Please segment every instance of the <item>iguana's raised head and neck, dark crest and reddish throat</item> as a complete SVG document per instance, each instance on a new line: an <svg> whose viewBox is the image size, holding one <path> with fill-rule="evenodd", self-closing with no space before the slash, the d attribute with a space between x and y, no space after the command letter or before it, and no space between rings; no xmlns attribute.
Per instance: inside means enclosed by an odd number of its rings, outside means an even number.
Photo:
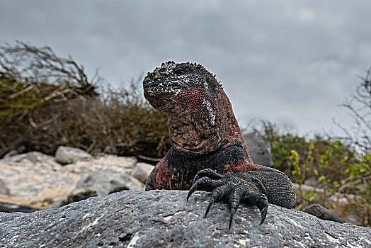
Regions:
<svg viewBox="0 0 371 248"><path fill-rule="evenodd" d="M147 74L143 89L154 108L168 113L177 150L202 154L244 142L227 95L202 65L165 62Z"/></svg>

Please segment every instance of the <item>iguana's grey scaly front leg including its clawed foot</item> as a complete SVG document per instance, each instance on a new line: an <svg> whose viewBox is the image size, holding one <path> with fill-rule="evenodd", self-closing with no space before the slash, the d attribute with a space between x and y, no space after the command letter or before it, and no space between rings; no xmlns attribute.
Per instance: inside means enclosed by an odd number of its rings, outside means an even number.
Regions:
<svg viewBox="0 0 371 248"><path fill-rule="evenodd" d="M212 169L202 169L193 180L188 198L196 190L212 191L205 218L212 203L226 200L229 203L229 229L239 203L256 205L261 210L262 224L266 219L268 202L285 208L293 208L296 201L295 188L290 179L280 171L262 167L259 171L249 171L228 175L218 174Z"/></svg>

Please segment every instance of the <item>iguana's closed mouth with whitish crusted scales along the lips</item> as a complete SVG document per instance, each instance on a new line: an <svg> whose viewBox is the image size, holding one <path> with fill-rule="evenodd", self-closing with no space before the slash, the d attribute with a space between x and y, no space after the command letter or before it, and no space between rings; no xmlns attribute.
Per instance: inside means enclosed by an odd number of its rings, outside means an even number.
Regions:
<svg viewBox="0 0 371 248"><path fill-rule="evenodd" d="M149 95L164 95L178 94L182 89L186 89L178 83L178 81L147 81L143 84L144 94Z"/></svg>

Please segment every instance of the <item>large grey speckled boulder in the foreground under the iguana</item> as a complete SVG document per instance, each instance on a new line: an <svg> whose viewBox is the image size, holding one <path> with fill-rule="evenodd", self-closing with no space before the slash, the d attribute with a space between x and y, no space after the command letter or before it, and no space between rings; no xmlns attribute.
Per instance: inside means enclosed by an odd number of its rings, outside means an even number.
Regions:
<svg viewBox="0 0 371 248"><path fill-rule="evenodd" d="M209 193L122 191L35 213L0 213L4 247L370 247L371 228L270 205L263 225L242 204L232 230L224 203L203 218Z"/></svg>

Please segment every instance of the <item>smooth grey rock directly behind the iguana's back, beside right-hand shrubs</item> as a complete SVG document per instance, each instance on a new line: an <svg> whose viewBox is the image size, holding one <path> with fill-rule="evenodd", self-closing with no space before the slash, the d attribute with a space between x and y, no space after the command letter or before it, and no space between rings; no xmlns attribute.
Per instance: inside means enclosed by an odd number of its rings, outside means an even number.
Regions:
<svg viewBox="0 0 371 248"><path fill-rule="evenodd" d="M256 132L247 133L244 135L247 146L249 147L250 156L255 164L273 167L273 160L270 157L270 150L263 140L263 137Z"/></svg>

